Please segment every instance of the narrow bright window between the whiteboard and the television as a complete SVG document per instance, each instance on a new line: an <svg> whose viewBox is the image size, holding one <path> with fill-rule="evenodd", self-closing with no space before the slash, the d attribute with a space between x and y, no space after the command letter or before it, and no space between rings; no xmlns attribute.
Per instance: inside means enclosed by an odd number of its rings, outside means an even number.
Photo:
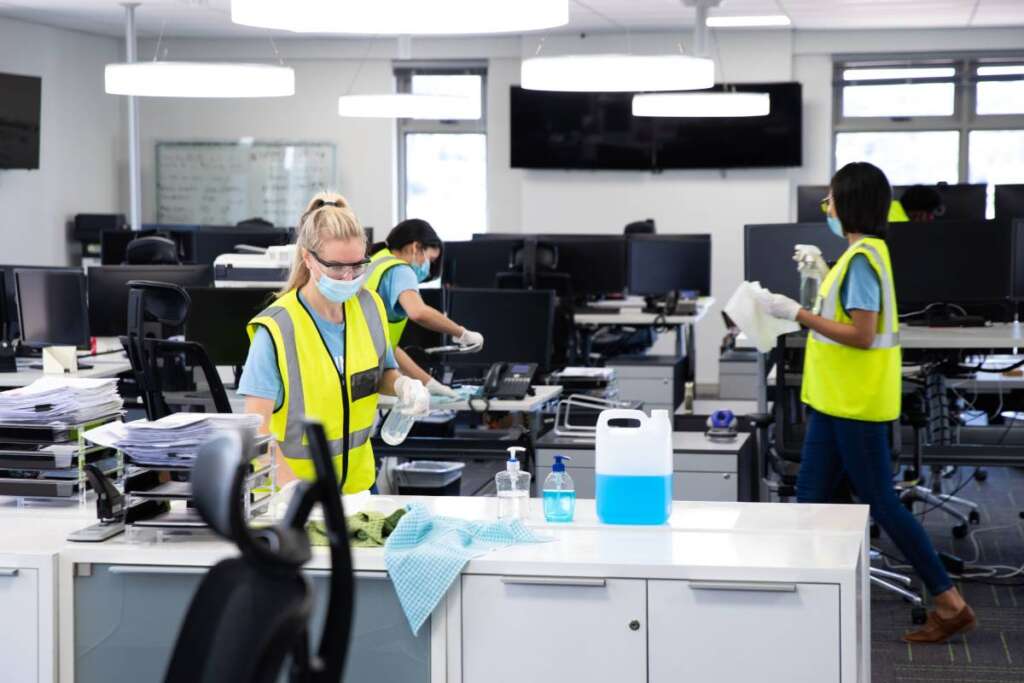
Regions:
<svg viewBox="0 0 1024 683"><path fill-rule="evenodd" d="M487 137L482 65L399 65L399 92L458 97L466 119L398 121L399 218L423 218L442 240L487 226Z"/></svg>

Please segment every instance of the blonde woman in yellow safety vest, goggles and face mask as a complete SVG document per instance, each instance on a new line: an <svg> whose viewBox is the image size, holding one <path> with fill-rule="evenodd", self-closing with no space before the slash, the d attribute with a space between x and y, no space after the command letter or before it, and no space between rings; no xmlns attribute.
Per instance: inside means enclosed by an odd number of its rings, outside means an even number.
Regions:
<svg viewBox="0 0 1024 683"><path fill-rule="evenodd" d="M430 403L422 383L396 371L384 305L362 289L366 253L366 232L345 199L317 195L299 219L288 284L249 322L239 382L246 412L263 417L295 476L314 476L302 420L324 424L346 494L376 478L370 434L378 395L398 396L410 414Z"/></svg>

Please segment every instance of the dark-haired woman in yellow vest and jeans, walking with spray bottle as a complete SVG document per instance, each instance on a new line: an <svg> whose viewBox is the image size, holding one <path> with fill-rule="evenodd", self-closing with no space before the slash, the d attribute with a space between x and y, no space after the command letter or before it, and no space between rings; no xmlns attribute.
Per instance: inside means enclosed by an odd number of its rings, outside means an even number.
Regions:
<svg viewBox="0 0 1024 683"><path fill-rule="evenodd" d="M871 517L913 565L935 610L912 643L944 642L977 625L924 527L892 482L890 429L899 420L902 380L896 289L885 237L892 188L866 163L847 164L831 180L827 224L849 248L825 272L814 311L780 294L762 303L810 332L801 399L809 408L797 500L828 503L845 475Z"/></svg>

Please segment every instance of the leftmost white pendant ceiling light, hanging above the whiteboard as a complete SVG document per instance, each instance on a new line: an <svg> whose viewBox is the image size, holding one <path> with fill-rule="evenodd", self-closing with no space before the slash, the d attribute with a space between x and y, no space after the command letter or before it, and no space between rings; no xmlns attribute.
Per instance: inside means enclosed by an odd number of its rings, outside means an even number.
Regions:
<svg viewBox="0 0 1024 683"><path fill-rule="evenodd" d="M295 72L271 65L137 61L106 65L105 90L139 97L288 97Z"/></svg>

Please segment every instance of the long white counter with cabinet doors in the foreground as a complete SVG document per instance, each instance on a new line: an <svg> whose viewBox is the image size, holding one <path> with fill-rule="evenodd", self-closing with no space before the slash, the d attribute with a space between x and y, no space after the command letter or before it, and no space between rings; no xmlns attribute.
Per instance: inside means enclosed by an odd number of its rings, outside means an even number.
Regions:
<svg viewBox="0 0 1024 683"><path fill-rule="evenodd" d="M390 510L410 500L358 505ZM417 500L446 516L496 513L495 499ZM651 527L600 524L588 500L571 524L548 525L542 515L531 500L527 524L553 542L469 562L419 637L397 609L383 551L354 550L345 680L660 682L686 671L707 681L870 681L866 507L675 503L669 523ZM0 512L0 538L36 537L13 544L13 555L38 549L56 567L57 599L31 607L58 616L56 640L39 645L59 652L59 680L160 680L203 573L237 550L212 539L74 545L57 526L31 511ZM319 610L328 566L315 549L306 569ZM7 608L0 621L20 626L23 616ZM6 652L5 674L35 652Z"/></svg>

